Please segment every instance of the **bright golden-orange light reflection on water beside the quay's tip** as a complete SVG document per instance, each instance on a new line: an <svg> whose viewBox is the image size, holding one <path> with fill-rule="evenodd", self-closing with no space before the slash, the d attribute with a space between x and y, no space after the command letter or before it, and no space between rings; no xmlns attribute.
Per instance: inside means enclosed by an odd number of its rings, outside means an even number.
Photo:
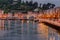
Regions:
<svg viewBox="0 0 60 40"><path fill-rule="evenodd" d="M38 24L37 31L40 40L48 40L48 27L44 23Z"/></svg>

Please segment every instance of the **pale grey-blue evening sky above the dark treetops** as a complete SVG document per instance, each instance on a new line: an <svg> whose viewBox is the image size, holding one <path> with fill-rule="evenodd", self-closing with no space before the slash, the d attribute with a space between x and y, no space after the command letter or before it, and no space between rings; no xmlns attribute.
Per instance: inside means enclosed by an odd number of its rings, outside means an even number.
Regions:
<svg viewBox="0 0 60 40"><path fill-rule="evenodd" d="M23 1L23 0L22 0ZM26 0L24 0L26 1ZM27 0L27 1L31 1L31 0ZM60 0L33 0L33 2L37 1L38 3L52 3L52 4L55 4L56 7L59 7L60 6Z"/></svg>

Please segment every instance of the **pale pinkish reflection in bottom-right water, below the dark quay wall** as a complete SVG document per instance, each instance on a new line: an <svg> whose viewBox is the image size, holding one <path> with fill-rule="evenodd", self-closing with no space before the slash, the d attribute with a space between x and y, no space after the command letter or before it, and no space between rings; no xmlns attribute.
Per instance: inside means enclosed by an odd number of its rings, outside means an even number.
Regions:
<svg viewBox="0 0 60 40"><path fill-rule="evenodd" d="M59 33L57 32L58 30L55 30L53 28L49 28L49 39L50 40L60 40L60 35Z"/></svg>

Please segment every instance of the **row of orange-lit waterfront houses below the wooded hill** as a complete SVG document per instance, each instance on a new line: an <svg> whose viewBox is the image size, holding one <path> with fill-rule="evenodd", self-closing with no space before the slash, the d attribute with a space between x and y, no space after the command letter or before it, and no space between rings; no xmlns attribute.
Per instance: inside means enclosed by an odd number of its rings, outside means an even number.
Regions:
<svg viewBox="0 0 60 40"><path fill-rule="evenodd" d="M27 13L22 13L22 12L14 12L13 13L5 13L3 12L3 10L0 10L0 18L36 18L36 19L40 19L40 18L60 18L60 7L57 8L53 8L53 9L49 9L49 10L43 10L43 11L39 11L39 12L32 12L29 11Z"/></svg>

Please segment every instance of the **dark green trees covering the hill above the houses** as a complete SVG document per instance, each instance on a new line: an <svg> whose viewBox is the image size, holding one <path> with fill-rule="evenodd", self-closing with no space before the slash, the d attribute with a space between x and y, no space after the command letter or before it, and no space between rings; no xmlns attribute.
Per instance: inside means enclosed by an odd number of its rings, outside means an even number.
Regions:
<svg viewBox="0 0 60 40"><path fill-rule="evenodd" d="M47 3L47 4L41 4L38 6L38 2L33 1L17 1L16 4L14 4L13 0L0 0L0 9L4 10L4 13L8 13L11 10L22 10L22 11L33 11L36 8L39 8L39 10L48 10L50 8L54 8L55 4Z"/></svg>

